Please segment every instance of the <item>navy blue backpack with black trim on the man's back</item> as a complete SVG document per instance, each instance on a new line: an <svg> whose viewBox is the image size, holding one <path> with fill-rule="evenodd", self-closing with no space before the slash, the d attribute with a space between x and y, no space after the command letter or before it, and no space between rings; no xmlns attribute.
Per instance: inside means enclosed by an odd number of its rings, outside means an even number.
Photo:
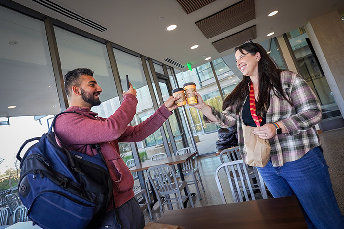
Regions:
<svg viewBox="0 0 344 229"><path fill-rule="evenodd" d="M71 113L71 112L62 112ZM44 229L92 229L105 214L112 197L112 182L100 146L88 156L58 146L52 131L27 140L17 153L20 163L20 200L28 217ZM38 140L25 153L24 146Z"/></svg>

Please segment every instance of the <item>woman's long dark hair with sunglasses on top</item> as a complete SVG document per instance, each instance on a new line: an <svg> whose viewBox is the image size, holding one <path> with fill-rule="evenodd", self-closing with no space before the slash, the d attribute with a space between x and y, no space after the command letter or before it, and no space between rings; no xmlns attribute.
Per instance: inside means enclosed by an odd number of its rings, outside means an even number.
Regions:
<svg viewBox="0 0 344 229"><path fill-rule="evenodd" d="M264 117L267 109L270 106L270 90L275 87L282 97L290 104L291 101L285 96L282 85L280 73L283 71L276 67L275 61L266 53L266 50L257 43L245 42L236 47L235 52L239 50L242 54L255 55L257 52L261 54L261 59L258 62L258 90L259 98L256 104L257 115ZM249 76L243 76L243 80L234 88L234 90L226 97L223 102L222 110L228 109L231 112L239 114L243 105L243 100L249 93L249 83L251 79ZM275 95L276 92L274 91ZM276 95L281 97L279 95Z"/></svg>

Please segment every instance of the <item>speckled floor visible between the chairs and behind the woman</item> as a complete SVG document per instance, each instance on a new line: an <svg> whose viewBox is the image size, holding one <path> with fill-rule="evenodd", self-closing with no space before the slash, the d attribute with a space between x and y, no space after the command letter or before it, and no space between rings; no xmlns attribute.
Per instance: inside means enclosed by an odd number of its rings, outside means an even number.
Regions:
<svg viewBox="0 0 344 229"><path fill-rule="evenodd" d="M342 214L344 214L344 128L327 131L319 134L319 136L324 148L324 156L329 166L333 190ZM215 141L216 139L214 139L214 142ZM222 204L214 179L214 172L216 167L220 164L220 159L218 156L215 156L215 154L212 154L199 157L198 163L205 192L201 193L202 200L199 199L197 194L192 197L195 207ZM190 177L187 179L190 179ZM199 187L201 189L201 185ZM191 192L196 193L195 185L189 185L189 188ZM228 193L225 194L229 197L226 197L227 202L231 203L233 200L229 193L229 185L227 188L223 187L223 190L228 190ZM191 207L190 203L188 203L188 207ZM167 206L163 208L167 210ZM149 213L146 210L143 211L143 214L145 215L146 222L156 222L161 216L159 204L156 203L153 206L153 220L150 219Z"/></svg>

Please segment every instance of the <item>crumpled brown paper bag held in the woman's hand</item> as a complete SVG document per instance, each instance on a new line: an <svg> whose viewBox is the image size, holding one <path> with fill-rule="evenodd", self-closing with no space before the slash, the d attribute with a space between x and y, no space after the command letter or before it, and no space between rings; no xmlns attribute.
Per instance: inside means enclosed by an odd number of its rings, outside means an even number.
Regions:
<svg viewBox="0 0 344 229"><path fill-rule="evenodd" d="M270 160L271 146L268 140L252 133L254 127L243 125L243 139L247 150L247 164L264 167Z"/></svg>

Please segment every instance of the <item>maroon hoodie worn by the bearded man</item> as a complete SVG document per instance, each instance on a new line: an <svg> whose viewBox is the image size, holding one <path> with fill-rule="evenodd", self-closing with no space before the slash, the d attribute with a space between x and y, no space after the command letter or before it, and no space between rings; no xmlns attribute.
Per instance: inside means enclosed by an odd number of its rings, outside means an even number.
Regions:
<svg viewBox="0 0 344 229"><path fill-rule="evenodd" d="M158 130L172 115L162 105L153 115L137 126L128 126L136 113L137 99L132 94L123 97L121 106L109 118L98 117L89 108L69 107L81 115L66 113L56 119L54 131L61 147L87 155L97 154L89 144L99 143L109 167L116 208L134 197L134 180L120 156L119 142L139 142ZM108 210L112 210L112 202Z"/></svg>

